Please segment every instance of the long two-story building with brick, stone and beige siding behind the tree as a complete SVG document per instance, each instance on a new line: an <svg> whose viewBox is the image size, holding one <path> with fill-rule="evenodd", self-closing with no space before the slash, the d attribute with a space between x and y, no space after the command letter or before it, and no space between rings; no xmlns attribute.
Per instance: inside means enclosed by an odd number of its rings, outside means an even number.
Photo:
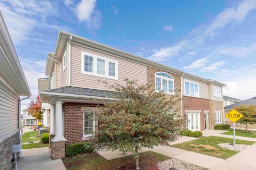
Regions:
<svg viewBox="0 0 256 170"><path fill-rule="evenodd" d="M187 116L190 130L213 129L223 121L225 84L186 73L68 32L59 31L54 53L48 53L46 76L38 79L42 103L51 105L50 148L53 159L65 157L67 143L89 140L94 122L84 114L113 99L98 80L125 84L153 84L175 95L178 114ZM182 90L181 90L182 89ZM97 100L92 100L92 98ZM180 100L182 98L182 100Z"/></svg>

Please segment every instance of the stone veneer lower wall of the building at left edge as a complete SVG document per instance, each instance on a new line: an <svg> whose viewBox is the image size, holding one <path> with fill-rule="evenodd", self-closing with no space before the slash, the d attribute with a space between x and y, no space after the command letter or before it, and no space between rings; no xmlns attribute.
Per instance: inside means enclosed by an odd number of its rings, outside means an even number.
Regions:
<svg viewBox="0 0 256 170"><path fill-rule="evenodd" d="M20 132L0 143L0 169L12 169L12 146L20 143Z"/></svg>

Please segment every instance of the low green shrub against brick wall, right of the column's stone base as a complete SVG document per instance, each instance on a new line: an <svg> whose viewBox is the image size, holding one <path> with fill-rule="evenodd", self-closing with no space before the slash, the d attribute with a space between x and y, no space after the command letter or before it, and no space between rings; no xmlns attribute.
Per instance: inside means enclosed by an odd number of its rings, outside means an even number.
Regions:
<svg viewBox="0 0 256 170"><path fill-rule="evenodd" d="M93 151L93 143L71 143L66 146L66 156L75 156L83 153L90 153Z"/></svg>

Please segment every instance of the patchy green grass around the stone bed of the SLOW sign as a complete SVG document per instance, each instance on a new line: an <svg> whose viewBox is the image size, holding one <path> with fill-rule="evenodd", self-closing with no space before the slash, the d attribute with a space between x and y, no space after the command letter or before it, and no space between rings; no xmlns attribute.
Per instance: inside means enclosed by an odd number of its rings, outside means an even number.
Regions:
<svg viewBox="0 0 256 170"><path fill-rule="evenodd" d="M228 150L218 146L219 143L233 143L233 139L222 137L205 137L173 145L174 148L185 149L199 154L209 155L217 158L227 159L237 151ZM253 145L252 141L236 140L236 144Z"/></svg>

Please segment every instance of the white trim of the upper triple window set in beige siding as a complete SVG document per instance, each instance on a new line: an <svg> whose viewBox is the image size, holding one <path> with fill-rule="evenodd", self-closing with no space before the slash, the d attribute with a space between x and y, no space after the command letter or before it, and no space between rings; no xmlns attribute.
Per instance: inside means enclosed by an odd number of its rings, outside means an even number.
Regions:
<svg viewBox="0 0 256 170"><path fill-rule="evenodd" d="M93 57L93 72L92 73L84 71L84 55ZM99 58L101 60L105 60L105 75L97 73L97 58ZM109 74L108 73L109 62L115 63L115 77L108 75ZM118 80L118 62L115 60L111 60L109 58L101 57L99 55L95 55L95 54L91 54L91 53L87 53L87 52L81 52L81 73L87 74L87 75L93 75L93 76L97 76L97 77L101 77L101 78L106 78L106 79Z"/></svg>

